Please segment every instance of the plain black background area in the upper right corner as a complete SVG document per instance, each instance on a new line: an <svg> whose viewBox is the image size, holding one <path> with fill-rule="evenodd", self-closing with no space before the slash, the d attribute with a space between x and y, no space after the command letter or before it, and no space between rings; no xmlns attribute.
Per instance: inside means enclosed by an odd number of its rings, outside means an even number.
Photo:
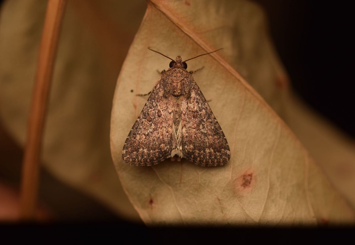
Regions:
<svg viewBox="0 0 355 245"><path fill-rule="evenodd" d="M354 13L347 1L256 0L294 91L355 137Z"/></svg>

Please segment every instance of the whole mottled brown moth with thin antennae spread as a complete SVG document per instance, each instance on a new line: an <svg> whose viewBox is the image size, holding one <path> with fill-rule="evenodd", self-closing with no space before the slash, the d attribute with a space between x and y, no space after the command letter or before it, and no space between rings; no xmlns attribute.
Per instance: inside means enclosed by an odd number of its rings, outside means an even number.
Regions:
<svg viewBox="0 0 355 245"><path fill-rule="evenodd" d="M201 166L226 164L230 158L229 146L217 119L193 80L193 72L186 70L186 61L191 59L182 61L180 56L175 60L169 59L172 60L170 68L162 71L162 77L128 134L122 160L146 166L169 157L172 161L186 158Z"/></svg>

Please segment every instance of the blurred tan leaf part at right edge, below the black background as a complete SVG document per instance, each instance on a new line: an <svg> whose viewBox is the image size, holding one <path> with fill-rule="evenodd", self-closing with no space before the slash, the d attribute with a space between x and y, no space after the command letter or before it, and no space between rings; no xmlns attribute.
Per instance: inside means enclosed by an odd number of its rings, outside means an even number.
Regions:
<svg viewBox="0 0 355 245"><path fill-rule="evenodd" d="M298 98L284 99L283 119L310 151L334 186L355 208L355 144Z"/></svg>

